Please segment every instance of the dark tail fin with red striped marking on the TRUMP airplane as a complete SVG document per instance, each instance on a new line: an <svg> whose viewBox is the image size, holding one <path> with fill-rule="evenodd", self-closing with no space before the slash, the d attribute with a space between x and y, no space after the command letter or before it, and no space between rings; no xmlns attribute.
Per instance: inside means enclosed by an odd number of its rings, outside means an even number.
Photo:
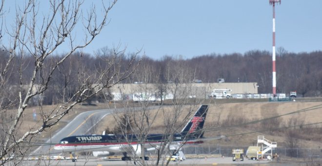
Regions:
<svg viewBox="0 0 322 166"><path fill-rule="evenodd" d="M181 135L187 136L189 138L201 138L203 136L203 131L201 131L204 121L206 120L206 115L209 105L201 105L196 111L195 115L189 120L187 125L185 125L181 131Z"/></svg>

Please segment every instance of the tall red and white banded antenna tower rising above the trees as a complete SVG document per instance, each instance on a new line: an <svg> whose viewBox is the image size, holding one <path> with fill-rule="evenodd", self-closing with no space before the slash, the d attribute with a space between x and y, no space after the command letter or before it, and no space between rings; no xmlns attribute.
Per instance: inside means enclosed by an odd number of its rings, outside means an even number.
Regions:
<svg viewBox="0 0 322 166"><path fill-rule="evenodd" d="M275 3L280 3L281 0L269 0L269 4L273 5L273 95L276 96L276 51L275 51Z"/></svg>

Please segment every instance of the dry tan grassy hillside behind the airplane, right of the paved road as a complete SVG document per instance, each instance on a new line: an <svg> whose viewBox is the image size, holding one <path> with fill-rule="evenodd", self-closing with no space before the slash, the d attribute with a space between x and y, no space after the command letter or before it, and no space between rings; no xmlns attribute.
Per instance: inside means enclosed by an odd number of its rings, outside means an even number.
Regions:
<svg viewBox="0 0 322 166"><path fill-rule="evenodd" d="M311 108L320 105L320 108L282 116L278 119L268 120L262 123L252 125L244 125L239 127L230 127L228 129L214 130L220 126L238 125L246 122L274 117L287 114L290 112ZM205 137L218 135L228 136L225 140L215 140L206 144L223 145L223 146L249 146L256 144L257 136L264 135L265 138L278 142L279 147L286 146L288 130L294 130L298 133L298 147L317 148L322 147L322 125L305 124L322 122L322 102L252 102L252 103L226 103L226 104L210 104L210 108L206 117L204 128L206 129ZM316 107L314 107L316 108ZM98 132L104 129L113 129L116 122L113 116L106 116L100 123ZM300 127L292 127L288 129L273 130L289 125L303 125ZM159 118L154 122L151 133L159 133L164 131L163 118ZM269 129L272 130L269 130ZM178 128L181 130L181 128ZM266 131L263 131L266 130ZM262 131L262 132L254 132ZM247 134L249 132L254 132Z"/></svg>

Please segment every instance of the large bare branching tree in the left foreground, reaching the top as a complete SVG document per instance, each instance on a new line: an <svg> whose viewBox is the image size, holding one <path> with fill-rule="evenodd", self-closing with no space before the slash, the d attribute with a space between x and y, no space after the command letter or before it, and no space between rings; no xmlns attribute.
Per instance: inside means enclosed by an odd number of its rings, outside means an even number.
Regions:
<svg viewBox="0 0 322 166"><path fill-rule="evenodd" d="M4 57L0 67L2 164L8 162L8 158L5 158L7 155L26 154L32 140L46 128L56 125L73 106L133 73L140 61L134 56L124 62L124 50L120 47L112 49L107 56L100 57L101 61L95 65L94 72L80 65L77 74L71 74L71 68L64 63L73 55L84 55L81 48L100 35L108 22L108 13L116 2L117 0L112 0L105 4L102 1L100 9L93 5L85 12L82 10L83 0L50 0L47 2L49 8L46 14L39 12L40 3L44 1L26 0L24 4L16 6L15 23L11 27L2 26L0 30L3 50L1 57ZM5 19L8 11L4 11L3 5L4 0L1 1L0 16ZM100 12L100 17L97 12ZM7 25L4 22L1 25ZM4 42L4 37L8 41ZM55 56L55 51L60 47L67 47L68 50ZM69 65L73 63L74 61L70 61ZM56 73L63 77L64 86L52 84ZM71 80L71 76L75 75L77 79ZM11 78L18 78L19 81L10 84ZM72 82L77 82L77 87L71 91L68 87ZM40 124L28 131L19 130L23 125L23 115L28 103L36 96L44 96L48 91L56 90L60 91L62 100L56 101L60 101L61 105L51 110L40 109ZM16 111L9 112L8 109Z"/></svg>

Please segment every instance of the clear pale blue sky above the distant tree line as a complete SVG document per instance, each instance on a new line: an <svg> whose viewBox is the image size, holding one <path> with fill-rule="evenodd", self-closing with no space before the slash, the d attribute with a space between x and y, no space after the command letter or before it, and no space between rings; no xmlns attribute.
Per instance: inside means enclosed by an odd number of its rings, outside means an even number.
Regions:
<svg viewBox="0 0 322 166"><path fill-rule="evenodd" d="M276 46L296 53L322 50L321 7L322 0L282 0ZM272 50L269 0L119 0L109 18L85 52L119 43L127 53L142 49L153 59Z"/></svg>

